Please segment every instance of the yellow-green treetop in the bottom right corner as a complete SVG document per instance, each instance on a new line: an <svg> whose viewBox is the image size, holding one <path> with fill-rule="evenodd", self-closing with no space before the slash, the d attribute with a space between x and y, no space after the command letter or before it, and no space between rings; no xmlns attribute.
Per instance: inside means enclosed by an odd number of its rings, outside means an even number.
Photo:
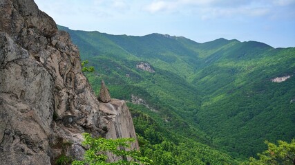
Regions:
<svg viewBox="0 0 295 165"><path fill-rule="evenodd" d="M250 165L262 164L294 164L295 165L295 140L287 143L279 140L276 144L265 141L268 149L263 153L258 153L259 159L250 157Z"/></svg>

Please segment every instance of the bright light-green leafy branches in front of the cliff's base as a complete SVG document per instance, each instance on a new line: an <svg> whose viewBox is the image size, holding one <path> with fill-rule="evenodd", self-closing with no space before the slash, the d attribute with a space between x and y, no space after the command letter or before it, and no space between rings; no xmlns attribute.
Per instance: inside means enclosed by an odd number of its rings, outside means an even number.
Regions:
<svg viewBox="0 0 295 165"><path fill-rule="evenodd" d="M140 151L129 150L131 142L135 140L132 138L121 138L121 139L105 139L102 137L93 138L89 133L84 133L84 144L88 147L88 150L84 154L84 160L75 160L73 165L84 165L84 164L151 164L152 161L147 157L142 157ZM107 162L108 156L106 153L112 153L115 155L117 162Z"/></svg>

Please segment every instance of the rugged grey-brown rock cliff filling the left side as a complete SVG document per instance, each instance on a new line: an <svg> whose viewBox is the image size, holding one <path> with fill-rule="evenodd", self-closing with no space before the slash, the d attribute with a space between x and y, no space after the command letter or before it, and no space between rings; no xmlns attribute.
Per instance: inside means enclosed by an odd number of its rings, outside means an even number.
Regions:
<svg viewBox="0 0 295 165"><path fill-rule="evenodd" d="M79 159L83 132L135 137L123 100L97 100L68 34L33 0L1 0L0 164Z"/></svg>

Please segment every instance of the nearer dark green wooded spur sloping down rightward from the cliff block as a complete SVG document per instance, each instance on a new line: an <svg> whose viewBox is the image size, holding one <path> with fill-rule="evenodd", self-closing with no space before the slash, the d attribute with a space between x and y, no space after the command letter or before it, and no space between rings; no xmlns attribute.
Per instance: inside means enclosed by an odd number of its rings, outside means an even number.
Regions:
<svg viewBox="0 0 295 165"><path fill-rule="evenodd" d="M140 150L155 164L238 164L229 155L167 131L149 115L131 108Z"/></svg>

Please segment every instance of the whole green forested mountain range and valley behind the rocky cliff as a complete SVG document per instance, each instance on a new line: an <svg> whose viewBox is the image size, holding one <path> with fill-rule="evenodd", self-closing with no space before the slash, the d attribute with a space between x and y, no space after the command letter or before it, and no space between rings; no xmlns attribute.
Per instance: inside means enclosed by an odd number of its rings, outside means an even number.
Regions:
<svg viewBox="0 0 295 165"><path fill-rule="evenodd" d="M103 79L129 101L142 151L157 164L238 164L265 140L295 138L295 48L59 29L95 67L95 91Z"/></svg>

